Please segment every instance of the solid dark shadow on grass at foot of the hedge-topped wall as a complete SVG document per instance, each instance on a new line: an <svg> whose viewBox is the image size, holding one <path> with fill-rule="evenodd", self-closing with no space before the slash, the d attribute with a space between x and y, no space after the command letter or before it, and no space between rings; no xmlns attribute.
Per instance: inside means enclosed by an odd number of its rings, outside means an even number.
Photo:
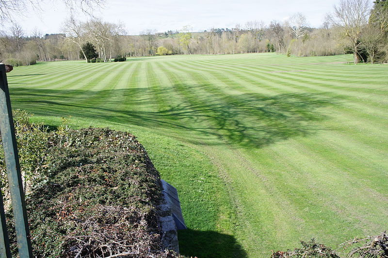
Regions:
<svg viewBox="0 0 388 258"><path fill-rule="evenodd" d="M246 258L247 254L233 236L215 231L178 230L179 252L198 258Z"/></svg>

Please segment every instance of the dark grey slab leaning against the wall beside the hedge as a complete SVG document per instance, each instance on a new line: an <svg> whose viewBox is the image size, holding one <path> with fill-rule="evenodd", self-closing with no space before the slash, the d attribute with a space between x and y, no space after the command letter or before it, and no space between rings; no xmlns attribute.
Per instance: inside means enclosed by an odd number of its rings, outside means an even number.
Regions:
<svg viewBox="0 0 388 258"><path fill-rule="evenodd" d="M183 219L182 210L180 208L180 202L178 197L177 189L167 183L164 180L162 181L163 191L162 194L167 201L167 204L171 206L172 215L177 226L177 229L187 229L185 221Z"/></svg>

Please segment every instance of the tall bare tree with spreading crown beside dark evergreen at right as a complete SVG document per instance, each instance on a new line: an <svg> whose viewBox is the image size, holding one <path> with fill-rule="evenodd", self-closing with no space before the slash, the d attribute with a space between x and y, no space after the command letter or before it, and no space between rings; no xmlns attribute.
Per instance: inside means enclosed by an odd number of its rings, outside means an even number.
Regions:
<svg viewBox="0 0 388 258"><path fill-rule="evenodd" d="M362 28L368 23L370 9L369 0L340 0L339 5L334 7L336 23L351 41L355 64L359 60L359 39Z"/></svg>

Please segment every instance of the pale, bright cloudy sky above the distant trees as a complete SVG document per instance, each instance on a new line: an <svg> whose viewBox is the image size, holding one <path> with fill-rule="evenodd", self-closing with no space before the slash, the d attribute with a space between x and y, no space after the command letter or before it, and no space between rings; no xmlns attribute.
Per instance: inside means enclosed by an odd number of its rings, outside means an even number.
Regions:
<svg viewBox="0 0 388 258"><path fill-rule="evenodd" d="M194 32L211 28L234 28L247 21L284 21L300 12L311 27L319 27L326 13L333 11L339 0L106 0L105 7L94 12L105 21L125 25L127 34L135 35L148 29L157 32L180 30L189 25ZM370 0L372 2L372 0ZM41 0L41 11L29 10L17 18L23 30L34 28L43 33L59 33L69 16L61 0ZM80 20L88 16L78 14Z"/></svg>

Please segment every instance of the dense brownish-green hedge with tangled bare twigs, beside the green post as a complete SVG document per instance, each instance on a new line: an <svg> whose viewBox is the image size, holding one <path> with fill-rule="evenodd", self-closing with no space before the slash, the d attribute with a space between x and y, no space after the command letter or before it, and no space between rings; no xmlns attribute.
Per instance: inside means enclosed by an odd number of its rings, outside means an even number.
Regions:
<svg viewBox="0 0 388 258"><path fill-rule="evenodd" d="M40 133L47 134L45 155L33 162L39 175L30 177L26 196L34 257L178 257L161 242L159 173L133 135L65 127Z"/></svg>

